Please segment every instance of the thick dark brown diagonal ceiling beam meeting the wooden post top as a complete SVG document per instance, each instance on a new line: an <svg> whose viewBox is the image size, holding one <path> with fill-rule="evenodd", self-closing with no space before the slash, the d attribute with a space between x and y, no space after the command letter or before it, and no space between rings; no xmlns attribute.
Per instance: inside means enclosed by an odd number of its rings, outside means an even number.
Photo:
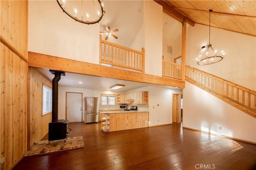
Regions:
<svg viewBox="0 0 256 170"><path fill-rule="evenodd" d="M189 18L187 18L186 16L184 16L183 14L181 14L180 12L175 10L174 7L168 5L166 2L164 2L162 0L154 0L154 1L156 3L162 5L163 6L163 12L166 13L167 15L171 16L175 20L177 20L177 21L182 23L184 21L184 18L186 18L186 22L188 24L190 24L191 26L195 26L195 22L194 21L190 20Z"/></svg>

